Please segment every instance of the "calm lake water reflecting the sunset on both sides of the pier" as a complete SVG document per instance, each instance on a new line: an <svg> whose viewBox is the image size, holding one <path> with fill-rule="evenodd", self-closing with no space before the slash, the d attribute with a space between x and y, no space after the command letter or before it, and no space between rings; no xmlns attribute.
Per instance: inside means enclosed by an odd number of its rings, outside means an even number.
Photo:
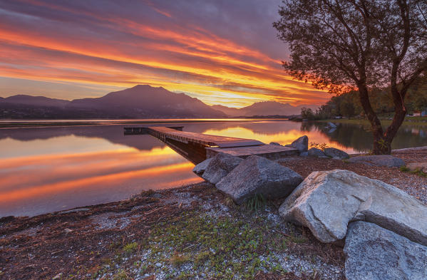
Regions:
<svg viewBox="0 0 427 280"><path fill-rule="evenodd" d="M177 123L173 123L177 125ZM185 131L288 144L301 135L346 152L371 147L358 125L327 130L284 120L182 123ZM194 165L150 135L123 135L123 127L0 129L0 217L117 201L142 190L200 182ZM427 145L427 129L403 127L393 148Z"/></svg>

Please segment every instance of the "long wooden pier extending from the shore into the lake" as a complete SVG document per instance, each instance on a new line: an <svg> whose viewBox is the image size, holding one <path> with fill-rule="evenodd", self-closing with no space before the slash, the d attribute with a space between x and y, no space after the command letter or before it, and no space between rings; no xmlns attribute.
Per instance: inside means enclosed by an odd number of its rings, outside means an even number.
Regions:
<svg viewBox="0 0 427 280"><path fill-rule="evenodd" d="M125 135L150 134L158 138L183 157L197 164L209 157L214 157L218 152L226 152L237 157L259 155L271 160L280 157L298 155L297 150L291 147L268 145L258 140L245 138L232 138L202 133L189 133L180 127L145 127L125 128Z"/></svg>

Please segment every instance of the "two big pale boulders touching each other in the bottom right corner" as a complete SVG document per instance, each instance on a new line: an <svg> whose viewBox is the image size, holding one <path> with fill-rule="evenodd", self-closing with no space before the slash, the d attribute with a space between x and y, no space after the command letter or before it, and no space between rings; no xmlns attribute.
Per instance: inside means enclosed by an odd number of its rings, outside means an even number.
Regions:
<svg viewBox="0 0 427 280"><path fill-rule="evenodd" d="M427 279L427 206L347 170L312 172L279 209L321 242L345 238L346 279Z"/></svg>

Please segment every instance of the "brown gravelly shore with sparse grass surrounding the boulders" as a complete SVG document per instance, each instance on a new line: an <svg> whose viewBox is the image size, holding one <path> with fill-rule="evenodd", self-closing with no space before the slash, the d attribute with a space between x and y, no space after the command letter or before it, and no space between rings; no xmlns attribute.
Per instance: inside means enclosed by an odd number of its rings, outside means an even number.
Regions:
<svg viewBox="0 0 427 280"><path fill-rule="evenodd" d="M406 162L422 160L427 147L396 150L393 155ZM280 163L302 177L314 170L351 170L395 185L427 204L427 178L396 167L310 157ZM283 222L277 211L281 203L268 201L259 209L237 206L201 182L35 217L4 217L0 275L227 279L231 269L242 279L344 279L342 248L322 244L308 229Z"/></svg>

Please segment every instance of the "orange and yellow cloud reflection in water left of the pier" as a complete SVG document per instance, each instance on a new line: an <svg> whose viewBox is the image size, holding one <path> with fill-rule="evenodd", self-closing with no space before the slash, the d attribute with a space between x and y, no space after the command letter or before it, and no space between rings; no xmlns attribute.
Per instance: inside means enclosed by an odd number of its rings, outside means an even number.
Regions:
<svg viewBox="0 0 427 280"><path fill-rule="evenodd" d="M41 214L200 182L193 166L169 147L0 160L0 216Z"/></svg>

